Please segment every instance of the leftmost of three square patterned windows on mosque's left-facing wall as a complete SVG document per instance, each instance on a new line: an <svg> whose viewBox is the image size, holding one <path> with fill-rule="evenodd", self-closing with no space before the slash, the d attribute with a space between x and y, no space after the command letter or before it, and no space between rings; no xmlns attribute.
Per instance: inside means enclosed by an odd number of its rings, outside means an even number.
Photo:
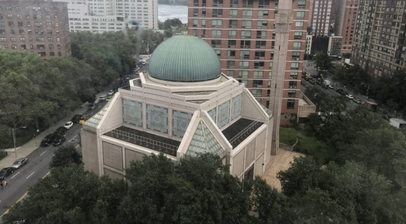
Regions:
<svg viewBox="0 0 406 224"><path fill-rule="evenodd" d="M123 99L123 122L143 126L143 104Z"/></svg>

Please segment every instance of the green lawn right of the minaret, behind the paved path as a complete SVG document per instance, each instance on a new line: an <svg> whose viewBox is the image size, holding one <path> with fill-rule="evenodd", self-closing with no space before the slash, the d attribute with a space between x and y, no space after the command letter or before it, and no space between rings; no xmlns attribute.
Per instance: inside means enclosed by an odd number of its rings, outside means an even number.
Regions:
<svg viewBox="0 0 406 224"><path fill-rule="evenodd" d="M328 162L328 158L332 155L333 151L325 142L317 140L316 137L307 136L304 131L280 127L279 142L293 145L297 138L299 138L299 142L293 149L294 151L312 155L321 164Z"/></svg>

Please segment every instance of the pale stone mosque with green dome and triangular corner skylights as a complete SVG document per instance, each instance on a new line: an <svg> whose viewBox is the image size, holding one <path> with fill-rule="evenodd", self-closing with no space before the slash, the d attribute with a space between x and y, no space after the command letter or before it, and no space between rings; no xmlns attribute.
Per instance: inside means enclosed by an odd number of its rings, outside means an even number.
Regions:
<svg viewBox="0 0 406 224"><path fill-rule="evenodd" d="M234 78L221 73L213 48L174 36L151 55L148 72L119 88L81 131L86 170L125 178L130 161L160 152L176 164L219 155L241 179L269 164L274 116Z"/></svg>

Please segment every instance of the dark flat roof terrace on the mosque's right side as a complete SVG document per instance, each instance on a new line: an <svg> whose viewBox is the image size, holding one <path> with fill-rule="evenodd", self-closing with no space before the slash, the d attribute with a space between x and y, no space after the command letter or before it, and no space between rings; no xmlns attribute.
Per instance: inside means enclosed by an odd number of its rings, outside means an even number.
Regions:
<svg viewBox="0 0 406 224"><path fill-rule="evenodd" d="M255 132L255 130L257 130L262 124L263 123L259 121L240 118L238 121L235 121L229 127L224 129L222 133L231 144L232 148L235 148Z"/></svg>

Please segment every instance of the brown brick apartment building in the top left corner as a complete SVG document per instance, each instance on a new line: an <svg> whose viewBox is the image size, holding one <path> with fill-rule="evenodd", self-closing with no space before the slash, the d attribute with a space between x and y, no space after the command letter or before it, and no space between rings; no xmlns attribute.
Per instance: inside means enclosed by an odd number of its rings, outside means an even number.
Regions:
<svg viewBox="0 0 406 224"><path fill-rule="evenodd" d="M44 59L70 56L67 4L0 0L0 50L22 50Z"/></svg>

